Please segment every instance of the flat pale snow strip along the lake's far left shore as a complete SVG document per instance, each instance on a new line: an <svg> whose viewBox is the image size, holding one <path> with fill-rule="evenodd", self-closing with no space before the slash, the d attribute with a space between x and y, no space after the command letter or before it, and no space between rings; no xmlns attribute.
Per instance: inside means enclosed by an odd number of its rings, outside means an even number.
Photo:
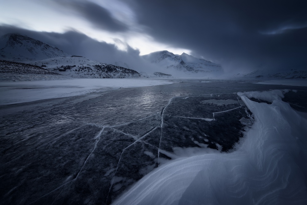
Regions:
<svg viewBox="0 0 307 205"><path fill-rule="evenodd" d="M158 79L66 79L51 81L2 81L0 105L36 100L77 96L117 88L134 88L172 84L174 81Z"/></svg>

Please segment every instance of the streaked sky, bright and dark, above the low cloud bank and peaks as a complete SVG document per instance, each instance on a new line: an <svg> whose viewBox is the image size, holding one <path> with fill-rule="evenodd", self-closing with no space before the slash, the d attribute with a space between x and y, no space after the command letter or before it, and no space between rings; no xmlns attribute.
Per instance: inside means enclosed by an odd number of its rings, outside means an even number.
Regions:
<svg viewBox="0 0 307 205"><path fill-rule="evenodd" d="M66 52L91 45L95 53L107 48L112 52L106 55L125 61L169 50L225 70L261 64L307 69L305 0L0 0L0 5L0 34L20 31L62 48L66 43Z"/></svg>

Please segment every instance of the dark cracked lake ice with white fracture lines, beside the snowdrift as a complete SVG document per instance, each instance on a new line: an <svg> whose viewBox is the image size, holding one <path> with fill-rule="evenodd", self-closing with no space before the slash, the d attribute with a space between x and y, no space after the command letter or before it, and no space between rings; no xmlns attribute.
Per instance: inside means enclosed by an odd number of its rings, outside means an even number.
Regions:
<svg viewBox="0 0 307 205"><path fill-rule="evenodd" d="M253 123L236 92L266 89L178 83L1 106L0 201L110 204L168 160L231 152Z"/></svg>

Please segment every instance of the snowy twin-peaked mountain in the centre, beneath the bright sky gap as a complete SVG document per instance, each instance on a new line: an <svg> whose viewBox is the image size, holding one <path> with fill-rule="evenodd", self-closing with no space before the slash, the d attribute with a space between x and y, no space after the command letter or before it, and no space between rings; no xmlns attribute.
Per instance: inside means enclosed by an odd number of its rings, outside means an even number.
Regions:
<svg viewBox="0 0 307 205"><path fill-rule="evenodd" d="M175 55L165 50L143 55L142 57L151 64L167 69L169 72L197 73L204 75L204 77L206 75L219 75L223 72L220 65L186 53Z"/></svg>

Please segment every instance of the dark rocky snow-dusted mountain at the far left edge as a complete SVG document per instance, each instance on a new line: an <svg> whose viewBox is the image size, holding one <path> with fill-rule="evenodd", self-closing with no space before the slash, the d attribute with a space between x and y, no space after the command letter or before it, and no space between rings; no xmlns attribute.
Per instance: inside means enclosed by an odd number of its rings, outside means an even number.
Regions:
<svg viewBox="0 0 307 205"><path fill-rule="evenodd" d="M6 34L0 39L0 57L3 60L24 62L62 56L69 54L27 36Z"/></svg>

